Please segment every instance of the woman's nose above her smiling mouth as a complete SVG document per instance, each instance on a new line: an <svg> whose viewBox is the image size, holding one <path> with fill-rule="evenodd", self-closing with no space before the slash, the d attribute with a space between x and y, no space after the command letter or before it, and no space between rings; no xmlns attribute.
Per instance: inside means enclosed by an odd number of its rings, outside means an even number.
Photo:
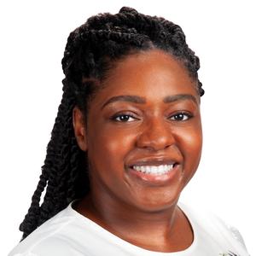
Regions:
<svg viewBox="0 0 256 256"><path fill-rule="evenodd" d="M165 120L151 120L144 125L143 131L137 137L137 147L149 150L162 150L175 143L170 124Z"/></svg>

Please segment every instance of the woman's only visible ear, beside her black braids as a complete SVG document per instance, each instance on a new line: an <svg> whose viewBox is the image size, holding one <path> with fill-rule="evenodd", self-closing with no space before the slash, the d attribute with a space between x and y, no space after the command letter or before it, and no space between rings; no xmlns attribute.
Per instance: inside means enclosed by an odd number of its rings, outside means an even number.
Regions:
<svg viewBox="0 0 256 256"><path fill-rule="evenodd" d="M81 150L87 150L87 137L86 137L86 127L84 124L84 116L82 111L75 107L73 108L73 130L75 137L77 139L77 143L79 144L79 148Z"/></svg>

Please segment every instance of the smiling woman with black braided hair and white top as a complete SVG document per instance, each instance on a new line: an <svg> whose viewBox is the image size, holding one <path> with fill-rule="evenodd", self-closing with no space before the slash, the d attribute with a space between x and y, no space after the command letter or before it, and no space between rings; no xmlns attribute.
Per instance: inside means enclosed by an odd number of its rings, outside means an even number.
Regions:
<svg viewBox="0 0 256 256"><path fill-rule="evenodd" d="M236 230L177 205L201 158L204 94L181 28L130 8L96 15L70 34L62 67L42 174L9 255L248 255Z"/></svg>

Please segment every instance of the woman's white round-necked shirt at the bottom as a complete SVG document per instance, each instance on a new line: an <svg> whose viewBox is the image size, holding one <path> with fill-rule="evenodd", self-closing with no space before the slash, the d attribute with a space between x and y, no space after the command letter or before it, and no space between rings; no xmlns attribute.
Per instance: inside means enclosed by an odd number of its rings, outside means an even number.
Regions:
<svg viewBox="0 0 256 256"><path fill-rule="evenodd" d="M73 210L70 204L21 241L9 256L248 256L241 235L209 213L180 205L194 241L177 253L153 252L132 245Z"/></svg>

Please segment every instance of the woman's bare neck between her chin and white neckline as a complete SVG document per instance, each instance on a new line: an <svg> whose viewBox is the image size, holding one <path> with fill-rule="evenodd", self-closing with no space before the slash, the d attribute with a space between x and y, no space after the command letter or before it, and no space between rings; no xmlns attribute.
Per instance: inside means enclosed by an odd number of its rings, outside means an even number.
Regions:
<svg viewBox="0 0 256 256"><path fill-rule="evenodd" d="M177 201L165 209L145 211L117 199L90 194L76 210L113 235L148 250L181 251L193 241L189 221L177 207Z"/></svg>

